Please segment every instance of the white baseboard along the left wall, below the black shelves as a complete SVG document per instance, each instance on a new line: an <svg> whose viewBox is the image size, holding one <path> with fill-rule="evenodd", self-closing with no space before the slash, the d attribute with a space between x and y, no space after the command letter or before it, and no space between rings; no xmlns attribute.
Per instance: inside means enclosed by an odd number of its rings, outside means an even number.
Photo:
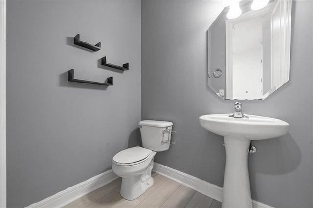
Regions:
<svg viewBox="0 0 313 208"><path fill-rule="evenodd" d="M117 178L118 176L111 169L86 181L76 184L75 186L60 191L40 202L31 204L26 208L61 208L90 193L91 191L103 187Z"/></svg>

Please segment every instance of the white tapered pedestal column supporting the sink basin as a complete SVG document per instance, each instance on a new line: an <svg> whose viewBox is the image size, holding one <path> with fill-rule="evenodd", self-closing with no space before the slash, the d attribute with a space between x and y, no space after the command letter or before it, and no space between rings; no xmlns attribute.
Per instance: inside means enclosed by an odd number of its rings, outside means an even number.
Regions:
<svg viewBox="0 0 313 208"><path fill-rule="evenodd" d="M252 208L248 172L250 140L225 136L226 167L222 208Z"/></svg>

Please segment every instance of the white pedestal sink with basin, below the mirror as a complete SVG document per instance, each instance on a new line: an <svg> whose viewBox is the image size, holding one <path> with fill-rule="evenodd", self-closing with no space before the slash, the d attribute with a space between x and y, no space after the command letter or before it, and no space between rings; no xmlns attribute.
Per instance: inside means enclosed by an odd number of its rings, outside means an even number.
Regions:
<svg viewBox="0 0 313 208"><path fill-rule="evenodd" d="M226 167L222 208L252 208L248 148L251 140L264 140L287 133L289 124L279 119L246 115L249 118L233 118L231 114L200 116L200 125L224 136Z"/></svg>

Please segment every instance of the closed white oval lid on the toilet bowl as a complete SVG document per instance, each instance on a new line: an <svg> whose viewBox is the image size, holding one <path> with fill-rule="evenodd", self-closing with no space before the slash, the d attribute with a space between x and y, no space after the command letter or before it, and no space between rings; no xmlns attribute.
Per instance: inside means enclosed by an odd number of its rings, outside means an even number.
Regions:
<svg viewBox="0 0 313 208"><path fill-rule="evenodd" d="M135 163L147 158L151 154L151 152L152 150L150 149L145 149L140 146L136 146L120 151L113 157L113 160L116 163L123 164Z"/></svg>

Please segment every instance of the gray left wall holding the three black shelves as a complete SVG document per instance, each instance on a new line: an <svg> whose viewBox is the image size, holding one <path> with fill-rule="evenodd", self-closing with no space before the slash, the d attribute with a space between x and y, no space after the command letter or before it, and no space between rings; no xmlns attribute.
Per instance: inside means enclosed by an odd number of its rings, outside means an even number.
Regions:
<svg viewBox="0 0 313 208"><path fill-rule="evenodd" d="M140 0L8 0L8 207L25 207L111 169L140 121ZM98 52L73 38L102 43ZM124 73L99 65L107 55ZM75 77L109 87L67 82Z"/></svg>

